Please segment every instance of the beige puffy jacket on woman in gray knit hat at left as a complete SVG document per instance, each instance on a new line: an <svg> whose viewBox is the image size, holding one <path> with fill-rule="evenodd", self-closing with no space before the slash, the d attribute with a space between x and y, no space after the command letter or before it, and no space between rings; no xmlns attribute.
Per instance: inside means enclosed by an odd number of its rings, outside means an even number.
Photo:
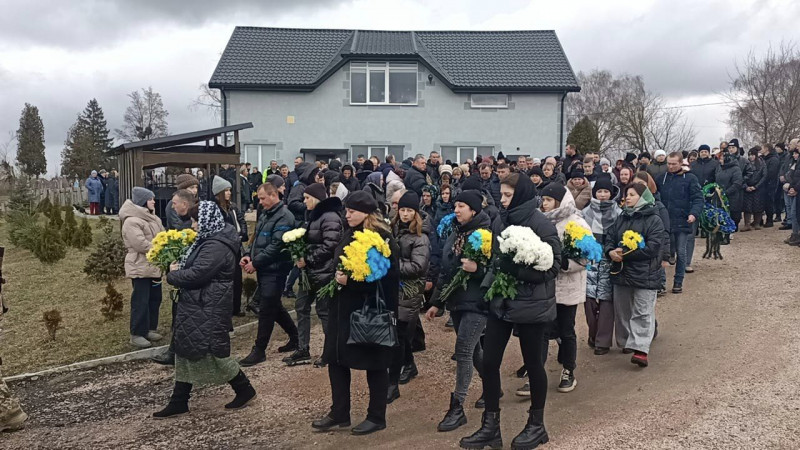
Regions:
<svg viewBox="0 0 800 450"><path fill-rule="evenodd" d="M161 278L161 269L147 262L147 252L153 247L153 238L164 231L161 219L144 206L125 200L119 210L122 223L122 241L125 255L125 276L128 278Z"/></svg>

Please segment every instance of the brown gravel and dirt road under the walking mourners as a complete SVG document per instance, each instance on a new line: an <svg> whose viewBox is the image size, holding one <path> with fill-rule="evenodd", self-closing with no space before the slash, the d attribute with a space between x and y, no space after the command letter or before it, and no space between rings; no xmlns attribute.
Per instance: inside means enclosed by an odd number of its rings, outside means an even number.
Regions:
<svg viewBox="0 0 800 450"><path fill-rule="evenodd" d="M551 346L546 448L798 448L800 447L800 250L780 243L785 233L739 234L723 247L725 259L698 258L684 294L659 299L659 337L651 365L638 369L613 350L594 356L585 344L579 309L578 387L556 392L560 367ZM698 255L703 241L698 241ZM247 373L258 400L239 412L222 405L230 389L198 391L189 415L155 422L171 372L149 363L128 363L17 383L32 419L28 428L0 437L2 448L453 448L477 429L480 396L475 377L467 408L469 423L437 433L447 409L455 363L454 334L443 321L426 323L428 350L417 354L420 376L401 387L389 406L388 428L372 436L314 433L309 423L329 407L327 372L311 366L283 367L271 344L269 361ZM246 353L252 335L235 341ZM321 348L318 328L312 346ZM503 365L503 437L508 446L526 420L527 399L514 396L522 380L521 357L512 339ZM366 382L353 377L352 417L365 415Z"/></svg>

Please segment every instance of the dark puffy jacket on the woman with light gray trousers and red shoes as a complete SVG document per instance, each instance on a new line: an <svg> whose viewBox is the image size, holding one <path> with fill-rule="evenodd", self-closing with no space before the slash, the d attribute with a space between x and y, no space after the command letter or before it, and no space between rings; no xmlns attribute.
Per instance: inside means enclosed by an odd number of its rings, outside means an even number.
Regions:
<svg viewBox="0 0 800 450"><path fill-rule="evenodd" d="M622 234L633 230L644 238L644 248L639 248L622 258L620 263L612 263L611 282L621 286L630 286L639 289L657 290L661 288L662 251L665 245L664 225L655 206L650 205L639 211L623 211L608 232L604 252L606 257L611 250L619 247ZM623 249L623 253L627 249ZM609 259L611 259L609 257ZM619 273L615 273L619 271Z"/></svg>

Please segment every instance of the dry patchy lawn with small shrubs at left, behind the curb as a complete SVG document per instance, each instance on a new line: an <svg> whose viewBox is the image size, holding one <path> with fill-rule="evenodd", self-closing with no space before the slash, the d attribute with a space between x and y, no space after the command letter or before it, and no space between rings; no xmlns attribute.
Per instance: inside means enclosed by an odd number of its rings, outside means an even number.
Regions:
<svg viewBox="0 0 800 450"><path fill-rule="evenodd" d="M8 283L3 286L3 295L10 311L0 321L4 376L135 350L129 344L130 280L114 283L125 304L122 316L109 322L100 312L105 284L89 281L82 272L86 257L102 236L96 221L92 225L92 246L85 251L70 248L67 257L53 265L40 263L27 250L6 247L3 276ZM2 221L0 242L8 242ZM165 334L169 333L172 320L167 289L165 286L159 317L159 331ZM42 322L43 312L51 309L61 311L63 318L64 328L58 331L55 341L50 340ZM253 317L234 319L234 325L239 325ZM167 338L157 344L166 343Z"/></svg>

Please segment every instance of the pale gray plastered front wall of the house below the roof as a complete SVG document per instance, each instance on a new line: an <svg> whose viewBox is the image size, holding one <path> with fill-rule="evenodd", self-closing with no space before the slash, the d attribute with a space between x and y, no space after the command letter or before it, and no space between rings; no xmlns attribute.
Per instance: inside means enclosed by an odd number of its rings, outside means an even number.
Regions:
<svg viewBox="0 0 800 450"><path fill-rule="evenodd" d="M515 93L508 109L472 109L468 94L453 93L435 78L430 85L420 66L418 105L351 106L349 77L345 65L308 93L227 91L228 123L252 122L252 129L240 132L242 145L273 144L281 162L301 148L355 145L402 145L404 157L441 146L491 146L495 154L535 157L558 153L561 94Z"/></svg>

